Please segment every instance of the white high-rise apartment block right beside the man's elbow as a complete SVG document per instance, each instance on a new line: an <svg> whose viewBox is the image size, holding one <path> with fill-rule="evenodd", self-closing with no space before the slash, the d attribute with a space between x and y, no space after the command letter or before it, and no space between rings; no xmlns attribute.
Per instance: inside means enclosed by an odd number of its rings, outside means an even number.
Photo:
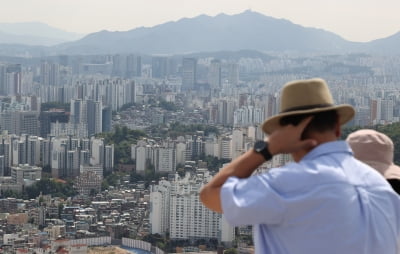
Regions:
<svg viewBox="0 0 400 254"><path fill-rule="evenodd" d="M199 200L199 190L211 179L206 169L184 178L160 181L150 193L150 224L152 233L169 232L171 239L218 239L232 242L234 228L221 214L212 212ZM223 238L222 238L223 237Z"/></svg>

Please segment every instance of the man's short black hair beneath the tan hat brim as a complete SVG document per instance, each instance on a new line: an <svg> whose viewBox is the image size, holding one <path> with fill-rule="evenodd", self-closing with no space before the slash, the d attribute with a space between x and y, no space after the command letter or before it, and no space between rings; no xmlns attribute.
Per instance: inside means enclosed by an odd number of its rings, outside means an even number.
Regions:
<svg viewBox="0 0 400 254"><path fill-rule="evenodd" d="M280 119L279 123L281 126L288 124L296 126L309 116L313 116L313 119L304 129L302 139L308 137L310 132L325 132L334 130L339 119L336 110L329 110L318 113L285 116Z"/></svg>

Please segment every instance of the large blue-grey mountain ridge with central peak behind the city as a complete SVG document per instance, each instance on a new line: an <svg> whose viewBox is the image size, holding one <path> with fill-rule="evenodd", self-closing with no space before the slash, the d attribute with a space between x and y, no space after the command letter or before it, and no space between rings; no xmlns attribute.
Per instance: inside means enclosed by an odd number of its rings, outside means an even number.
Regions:
<svg viewBox="0 0 400 254"><path fill-rule="evenodd" d="M1 26L0 26L1 31ZM253 11L236 15L200 15L125 32L100 31L31 55L190 54L216 51L400 54L400 33L368 43L351 42L323 29L303 27ZM4 52L1 50L0 52ZM23 48L18 47L18 50ZM35 51L40 50L40 53Z"/></svg>

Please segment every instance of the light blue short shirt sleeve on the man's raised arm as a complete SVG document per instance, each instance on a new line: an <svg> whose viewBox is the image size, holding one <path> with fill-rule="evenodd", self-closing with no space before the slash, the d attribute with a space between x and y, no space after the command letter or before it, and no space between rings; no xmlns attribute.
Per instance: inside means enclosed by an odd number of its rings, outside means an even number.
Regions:
<svg viewBox="0 0 400 254"><path fill-rule="evenodd" d="M231 225L279 224L284 218L284 199L258 175L230 177L220 194L222 211Z"/></svg>

